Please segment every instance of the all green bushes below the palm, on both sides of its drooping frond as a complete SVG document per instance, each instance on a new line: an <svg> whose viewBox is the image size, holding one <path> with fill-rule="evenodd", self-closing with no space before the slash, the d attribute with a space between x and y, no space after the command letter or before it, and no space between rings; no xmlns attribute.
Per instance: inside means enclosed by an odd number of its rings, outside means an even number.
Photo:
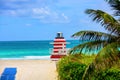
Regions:
<svg viewBox="0 0 120 80"><path fill-rule="evenodd" d="M57 64L58 80L82 80L85 70L95 57L96 55L72 54L60 59ZM91 75L91 78L88 76L84 80L119 80L120 67L116 64Z"/></svg>

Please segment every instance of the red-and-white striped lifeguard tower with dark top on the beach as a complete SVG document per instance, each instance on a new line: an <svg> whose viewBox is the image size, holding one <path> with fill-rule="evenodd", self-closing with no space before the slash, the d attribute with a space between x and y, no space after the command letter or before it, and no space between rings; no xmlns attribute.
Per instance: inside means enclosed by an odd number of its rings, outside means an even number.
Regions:
<svg viewBox="0 0 120 80"><path fill-rule="evenodd" d="M57 37L51 44L53 44L53 49L50 56L51 60L56 61L59 60L61 57L67 55L68 49L66 49L66 44L68 44L68 42L66 42L66 40L64 39L63 33L58 32Z"/></svg>

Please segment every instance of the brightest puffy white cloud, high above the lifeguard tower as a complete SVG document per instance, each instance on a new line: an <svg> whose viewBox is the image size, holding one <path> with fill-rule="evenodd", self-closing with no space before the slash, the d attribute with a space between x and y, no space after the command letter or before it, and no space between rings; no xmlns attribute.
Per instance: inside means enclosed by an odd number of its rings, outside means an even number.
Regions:
<svg viewBox="0 0 120 80"><path fill-rule="evenodd" d="M33 18L39 19L42 23L68 23L69 19L64 13L52 11L48 7L33 8Z"/></svg>

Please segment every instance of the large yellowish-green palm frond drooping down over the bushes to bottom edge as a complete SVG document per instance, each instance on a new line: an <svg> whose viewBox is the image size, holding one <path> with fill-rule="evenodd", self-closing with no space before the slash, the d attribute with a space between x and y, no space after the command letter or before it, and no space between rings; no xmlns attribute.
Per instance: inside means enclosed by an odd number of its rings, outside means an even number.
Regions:
<svg viewBox="0 0 120 80"><path fill-rule="evenodd" d="M94 76L96 72L102 69L112 67L114 64L120 64L120 42L113 42L105 46L96 56L94 62L92 62L86 69L83 80L89 79Z"/></svg>

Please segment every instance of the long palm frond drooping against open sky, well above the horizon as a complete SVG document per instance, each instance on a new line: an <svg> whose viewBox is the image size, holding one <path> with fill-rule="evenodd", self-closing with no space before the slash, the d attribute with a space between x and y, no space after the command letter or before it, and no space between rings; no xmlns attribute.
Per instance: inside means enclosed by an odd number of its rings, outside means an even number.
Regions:
<svg viewBox="0 0 120 80"><path fill-rule="evenodd" d="M113 18L111 15L101 11L101 10L93 10L87 9L86 14L89 14L93 17L93 21L101 23L101 25L108 30L111 34L120 35L120 23Z"/></svg>

